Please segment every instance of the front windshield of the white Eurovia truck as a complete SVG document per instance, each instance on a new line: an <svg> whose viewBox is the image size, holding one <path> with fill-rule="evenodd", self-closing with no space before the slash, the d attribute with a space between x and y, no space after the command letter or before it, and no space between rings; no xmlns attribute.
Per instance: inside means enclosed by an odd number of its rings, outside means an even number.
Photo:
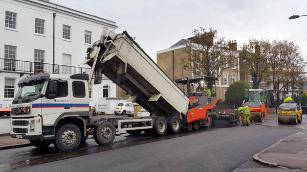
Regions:
<svg viewBox="0 0 307 172"><path fill-rule="evenodd" d="M19 85L19 89L12 104L33 102L38 99L44 82L44 80L41 80Z"/></svg>

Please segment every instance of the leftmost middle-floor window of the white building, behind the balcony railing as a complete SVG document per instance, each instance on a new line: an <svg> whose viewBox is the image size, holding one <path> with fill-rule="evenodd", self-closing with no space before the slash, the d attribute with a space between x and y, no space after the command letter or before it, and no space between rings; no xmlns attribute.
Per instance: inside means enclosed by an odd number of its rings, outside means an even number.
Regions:
<svg viewBox="0 0 307 172"><path fill-rule="evenodd" d="M17 46L4 45L4 69L15 70Z"/></svg>

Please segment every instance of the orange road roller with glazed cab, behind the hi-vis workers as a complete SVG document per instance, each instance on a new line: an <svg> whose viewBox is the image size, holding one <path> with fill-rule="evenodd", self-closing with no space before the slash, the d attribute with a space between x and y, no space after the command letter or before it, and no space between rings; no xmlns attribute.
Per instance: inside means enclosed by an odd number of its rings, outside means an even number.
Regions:
<svg viewBox="0 0 307 172"><path fill-rule="evenodd" d="M271 106L270 90L268 89L246 89L246 103L250 109L250 120L252 122L265 122L269 115Z"/></svg>

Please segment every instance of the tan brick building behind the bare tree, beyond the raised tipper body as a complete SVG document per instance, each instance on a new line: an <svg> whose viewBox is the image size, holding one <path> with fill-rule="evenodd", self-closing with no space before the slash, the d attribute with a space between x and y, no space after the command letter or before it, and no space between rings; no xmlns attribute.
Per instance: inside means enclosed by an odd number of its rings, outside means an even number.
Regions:
<svg viewBox="0 0 307 172"><path fill-rule="evenodd" d="M208 35L210 41L213 42L213 36L210 37ZM181 39L171 47L161 50L157 52L157 64L161 67L161 69L168 75L172 80L183 78L183 77L192 77L195 76L193 72L190 70L185 70L183 64L181 62L182 58L186 58L188 53L187 50L187 39ZM230 84L235 81L240 80L240 72L239 72L239 54L237 53L237 43L236 41L229 42L229 46L227 47L229 51L235 51L235 65L230 68L226 68L221 77L218 78L218 82L216 83L216 93L219 99L225 99L225 93ZM225 64L225 67L232 66L230 64ZM202 75L201 71L197 72L197 75ZM194 84L194 88L198 85ZM180 86L182 87L182 86ZM186 87L184 87L186 91Z"/></svg>

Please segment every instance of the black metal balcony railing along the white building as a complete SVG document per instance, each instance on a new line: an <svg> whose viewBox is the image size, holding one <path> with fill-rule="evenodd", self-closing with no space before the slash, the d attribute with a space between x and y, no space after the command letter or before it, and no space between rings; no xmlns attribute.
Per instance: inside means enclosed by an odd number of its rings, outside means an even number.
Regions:
<svg viewBox="0 0 307 172"><path fill-rule="evenodd" d="M73 75L76 73L87 73L90 75L91 68L86 67L76 67L76 66L67 66L60 64L51 64L51 63L41 63L41 62L31 62L23 60L14 60L14 59L4 59L0 58L0 70L12 73L37 73L40 71L54 72L57 74L68 74ZM102 78L106 78L104 75Z"/></svg>

